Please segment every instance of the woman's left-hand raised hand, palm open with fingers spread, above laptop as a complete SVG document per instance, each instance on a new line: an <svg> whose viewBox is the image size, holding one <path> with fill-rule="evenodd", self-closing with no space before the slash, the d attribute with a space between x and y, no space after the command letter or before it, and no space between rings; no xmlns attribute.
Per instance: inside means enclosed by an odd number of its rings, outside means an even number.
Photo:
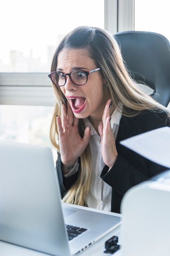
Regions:
<svg viewBox="0 0 170 256"><path fill-rule="evenodd" d="M68 173L82 155L90 139L90 127L86 127L84 137L81 138L78 131L79 119L73 115L71 106L62 104L62 121L57 116L60 154L63 173Z"/></svg>

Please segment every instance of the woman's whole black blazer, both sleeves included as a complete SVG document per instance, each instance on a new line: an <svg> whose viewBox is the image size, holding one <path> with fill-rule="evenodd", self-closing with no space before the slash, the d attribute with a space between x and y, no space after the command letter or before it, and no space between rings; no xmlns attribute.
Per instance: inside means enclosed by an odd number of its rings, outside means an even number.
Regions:
<svg viewBox="0 0 170 256"><path fill-rule="evenodd" d="M108 166L105 166L101 173L104 182L112 186L111 211L120 213L121 200L126 191L132 186L167 170L167 168L151 162L121 145L119 142L123 139L164 126L170 126L170 120L164 112L155 113L145 111L136 117L121 117L116 139L117 160L109 172L107 172L109 169ZM75 182L78 172L65 178L61 171L60 154L56 162L56 170L63 195Z"/></svg>

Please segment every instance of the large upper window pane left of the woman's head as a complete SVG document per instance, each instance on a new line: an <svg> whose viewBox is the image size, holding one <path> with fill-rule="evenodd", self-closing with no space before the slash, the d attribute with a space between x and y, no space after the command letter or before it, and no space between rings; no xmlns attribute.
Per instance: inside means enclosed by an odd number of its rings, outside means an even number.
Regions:
<svg viewBox="0 0 170 256"><path fill-rule="evenodd" d="M4 0L0 72L49 72L54 50L73 28L104 28L104 0Z"/></svg>

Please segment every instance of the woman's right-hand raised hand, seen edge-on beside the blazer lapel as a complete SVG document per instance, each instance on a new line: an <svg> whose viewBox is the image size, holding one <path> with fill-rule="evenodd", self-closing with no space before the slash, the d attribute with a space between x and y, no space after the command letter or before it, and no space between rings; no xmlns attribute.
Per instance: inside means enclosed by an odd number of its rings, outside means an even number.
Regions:
<svg viewBox="0 0 170 256"><path fill-rule="evenodd" d="M100 150L104 163L111 168L117 159L117 149L112 128L110 126L110 102L108 100L104 108L102 121L99 123Z"/></svg>

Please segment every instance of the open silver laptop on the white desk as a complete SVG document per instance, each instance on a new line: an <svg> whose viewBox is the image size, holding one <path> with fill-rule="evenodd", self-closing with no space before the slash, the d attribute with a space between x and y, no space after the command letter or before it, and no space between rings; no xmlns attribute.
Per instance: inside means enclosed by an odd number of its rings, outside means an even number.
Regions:
<svg viewBox="0 0 170 256"><path fill-rule="evenodd" d="M0 141L0 240L69 256L120 224L119 214L61 202L50 148Z"/></svg>

